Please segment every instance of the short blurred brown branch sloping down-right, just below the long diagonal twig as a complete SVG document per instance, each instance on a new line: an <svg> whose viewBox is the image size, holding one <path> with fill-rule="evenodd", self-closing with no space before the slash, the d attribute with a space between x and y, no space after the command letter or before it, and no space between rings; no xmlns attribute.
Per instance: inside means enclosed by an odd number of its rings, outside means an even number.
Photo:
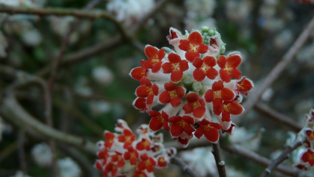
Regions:
<svg viewBox="0 0 314 177"><path fill-rule="evenodd" d="M297 122L295 122L290 117L288 117L284 114L281 114L281 113L277 112L276 110L274 110L274 109L272 109L272 108L270 108L264 104L258 103L255 105L255 108L258 111L266 114L269 118L272 118L273 120L279 122L281 125L283 124L283 125L289 126L295 132L299 132L302 129L302 126L300 126Z"/></svg>

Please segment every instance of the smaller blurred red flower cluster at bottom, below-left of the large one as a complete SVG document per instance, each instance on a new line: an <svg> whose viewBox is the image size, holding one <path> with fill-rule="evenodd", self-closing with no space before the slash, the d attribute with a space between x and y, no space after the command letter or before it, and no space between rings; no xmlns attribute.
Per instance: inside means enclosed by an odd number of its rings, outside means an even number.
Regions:
<svg viewBox="0 0 314 177"><path fill-rule="evenodd" d="M164 148L162 134L155 135L148 125L139 126L137 138L123 120L118 120L115 131L105 131L106 141L97 143L95 167L103 177L154 177L154 167L167 167L176 154L176 149Z"/></svg>

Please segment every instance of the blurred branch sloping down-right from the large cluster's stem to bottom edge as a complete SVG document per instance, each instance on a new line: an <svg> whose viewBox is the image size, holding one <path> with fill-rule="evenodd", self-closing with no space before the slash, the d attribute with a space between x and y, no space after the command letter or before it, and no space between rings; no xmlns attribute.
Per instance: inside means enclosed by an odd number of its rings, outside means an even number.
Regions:
<svg viewBox="0 0 314 177"><path fill-rule="evenodd" d="M222 149L231 153L238 154L244 158L253 160L254 162L259 163L263 166L268 166L269 164L271 164L271 161L268 158L263 157L257 154L256 152L247 150L239 145L227 145L227 146L223 146ZM276 166L274 170L281 172L285 175L291 176L291 177L298 177L297 172L294 171L291 167L279 165L279 166Z"/></svg>

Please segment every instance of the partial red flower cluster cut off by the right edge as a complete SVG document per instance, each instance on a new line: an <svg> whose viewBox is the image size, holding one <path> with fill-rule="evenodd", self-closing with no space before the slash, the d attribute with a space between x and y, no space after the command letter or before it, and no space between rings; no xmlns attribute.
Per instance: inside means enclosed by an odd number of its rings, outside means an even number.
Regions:
<svg viewBox="0 0 314 177"><path fill-rule="evenodd" d="M303 146L307 151L301 153L301 162L296 167L301 170L310 170L314 166L314 109L306 115L305 126L299 132L298 137L302 138Z"/></svg>

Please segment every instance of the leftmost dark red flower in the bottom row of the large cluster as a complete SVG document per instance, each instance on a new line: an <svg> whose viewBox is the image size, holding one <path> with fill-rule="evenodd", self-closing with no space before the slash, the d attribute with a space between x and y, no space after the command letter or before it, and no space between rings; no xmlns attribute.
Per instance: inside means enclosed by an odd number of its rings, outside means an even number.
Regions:
<svg viewBox="0 0 314 177"><path fill-rule="evenodd" d="M168 125L168 115L166 112L162 111L161 113L158 111L149 111L149 115L152 117L151 121L149 122L149 127L153 131L158 131L163 128L168 131L170 129Z"/></svg>

